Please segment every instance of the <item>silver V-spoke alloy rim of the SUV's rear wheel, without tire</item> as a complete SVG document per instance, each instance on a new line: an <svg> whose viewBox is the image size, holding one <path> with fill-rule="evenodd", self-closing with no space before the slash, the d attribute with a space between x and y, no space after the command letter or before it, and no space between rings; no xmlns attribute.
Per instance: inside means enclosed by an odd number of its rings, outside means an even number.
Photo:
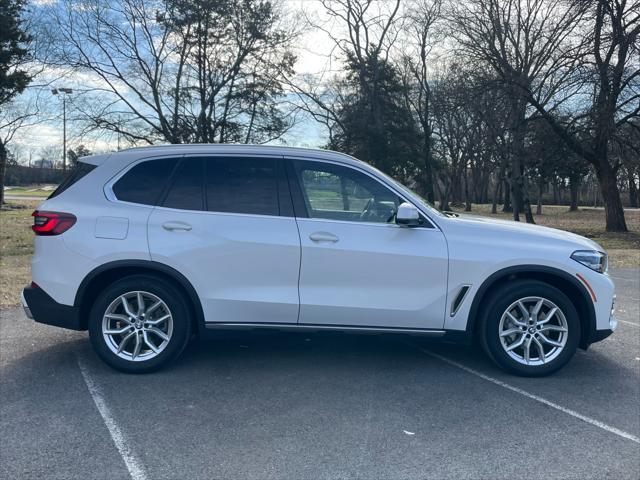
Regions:
<svg viewBox="0 0 640 480"><path fill-rule="evenodd" d="M173 316L156 295L132 291L118 296L102 318L102 337L118 357L142 362L157 357L173 334Z"/></svg>

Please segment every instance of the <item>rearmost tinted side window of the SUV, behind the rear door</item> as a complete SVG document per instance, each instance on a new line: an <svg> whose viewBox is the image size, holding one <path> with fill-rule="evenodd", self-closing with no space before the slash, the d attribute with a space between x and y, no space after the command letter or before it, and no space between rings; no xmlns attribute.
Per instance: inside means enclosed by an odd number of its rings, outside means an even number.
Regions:
<svg viewBox="0 0 640 480"><path fill-rule="evenodd" d="M176 161L175 158L163 158L139 163L113 185L113 193L124 202L155 205Z"/></svg>

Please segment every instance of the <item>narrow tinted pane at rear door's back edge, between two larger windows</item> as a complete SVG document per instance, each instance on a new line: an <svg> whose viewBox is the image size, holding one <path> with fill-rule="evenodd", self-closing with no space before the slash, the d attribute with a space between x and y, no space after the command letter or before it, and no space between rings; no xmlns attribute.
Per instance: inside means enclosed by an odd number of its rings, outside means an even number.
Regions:
<svg viewBox="0 0 640 480"><path fill-rule="evenodd" d="M162 205L182 210L204 210L203 173L201 159L180 162Z"/></svg>

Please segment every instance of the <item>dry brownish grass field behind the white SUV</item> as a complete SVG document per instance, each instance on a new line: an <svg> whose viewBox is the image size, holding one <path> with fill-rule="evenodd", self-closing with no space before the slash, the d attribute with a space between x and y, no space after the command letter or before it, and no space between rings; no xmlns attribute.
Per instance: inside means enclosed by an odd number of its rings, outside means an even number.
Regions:
<svg viewBox="0 0 640 480"><path fill-rule="evenodd" d="M0 305L15 305L20 291L31 281L30 259L33 251L31 212L38 202L8 201L0 211ZM510 219L510 214L491 215L489 205L474 205L471 213ZM640 211L627 211L628 233L604 231L604 211L583 208L569 212L564 206L545 206L536 223L589 237L609 252L612 267L640 266Z"/></svg>

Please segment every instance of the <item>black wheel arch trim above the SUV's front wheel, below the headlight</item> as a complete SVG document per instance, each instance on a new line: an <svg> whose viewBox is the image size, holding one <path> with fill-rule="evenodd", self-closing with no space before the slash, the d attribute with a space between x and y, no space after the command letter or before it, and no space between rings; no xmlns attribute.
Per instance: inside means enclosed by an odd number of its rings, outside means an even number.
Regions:
<svg viewBox="0 0 640 480"><path fill-rule="evenodd" d="M518 265L498 270L491 274L478 288L469 309L467 335L476 339L480 314L484 301L489 293L514 279L539 280L562 291L572 301L578 311L581 326L580 348L586 349L591 343L591 336L596 329L596 312L591 296L584 285L569 273L544 265Z"/></svg>

